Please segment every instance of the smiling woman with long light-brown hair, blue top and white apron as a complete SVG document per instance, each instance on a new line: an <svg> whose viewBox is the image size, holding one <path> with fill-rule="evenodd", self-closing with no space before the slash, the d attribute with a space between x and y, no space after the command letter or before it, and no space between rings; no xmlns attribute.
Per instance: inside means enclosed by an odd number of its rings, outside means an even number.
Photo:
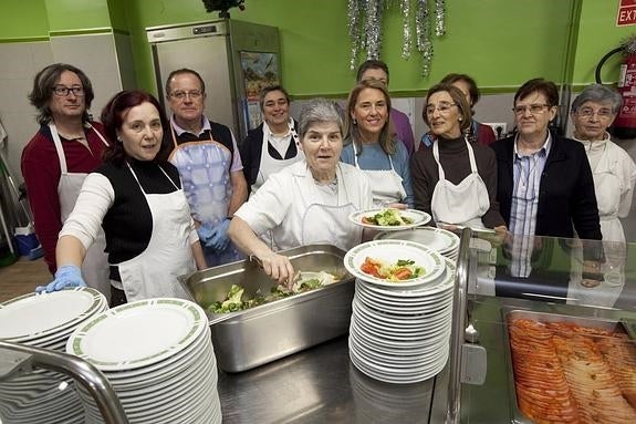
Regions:
<svg viewBox="0 0 636 424"><path fill-rule="evenodd" d="M408 152L395 138L390 97L384 83L363 81L350 93L345 147L341 161L363 169L372 185L374 207L413 207Z"/></svg>

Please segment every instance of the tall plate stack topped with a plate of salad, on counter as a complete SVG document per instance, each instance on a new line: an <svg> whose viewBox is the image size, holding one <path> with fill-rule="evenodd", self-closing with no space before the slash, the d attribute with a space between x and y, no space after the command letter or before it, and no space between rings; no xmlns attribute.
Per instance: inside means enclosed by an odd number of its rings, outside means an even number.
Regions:
<svg viewBox="0 0 636 424"><path fill-rule="evenodd" d="M387 269L424 268L417 276L389 281L369 272L369 262ZM437 375L449 355L455 261L408 240L374 240L351 249L345 267L356 277L350 327L350 358L364 374L408 384ZM421 271L420 271L421 272Z"/></svg>

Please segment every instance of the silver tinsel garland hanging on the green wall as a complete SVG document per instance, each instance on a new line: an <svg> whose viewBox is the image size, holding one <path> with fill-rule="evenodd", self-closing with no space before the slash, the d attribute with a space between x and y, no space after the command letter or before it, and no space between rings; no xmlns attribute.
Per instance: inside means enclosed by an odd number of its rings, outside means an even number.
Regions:
<svg viewBox="0 0 636 424"><path fill-rule="evenodd" d="M402 58L409 59L413 45L410 29L410 6L415 1L415 34L417 50L421 54L421 74L428 76L432 62L432 41L428 0L398 0L403 17ZM356 69L356 62L362 51L365 59L378 59L382 50L382 21L385 9L395 6L394 0L347 0L347 27L351 39L350 69ZM435 35L446 34L446 3L435 0Z"/></svg>

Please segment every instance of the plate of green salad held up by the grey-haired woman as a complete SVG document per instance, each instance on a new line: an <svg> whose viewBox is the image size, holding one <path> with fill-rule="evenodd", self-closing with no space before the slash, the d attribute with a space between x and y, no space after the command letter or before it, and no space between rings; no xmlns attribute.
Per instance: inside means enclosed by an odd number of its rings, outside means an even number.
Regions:
<svg viewBox="0 0 636 424"><path fill-rule="evenodd" d="M417 209L384 208L356 211L348 219L363 227L390 231L425 225L430 220L430 215Z"/></svg>

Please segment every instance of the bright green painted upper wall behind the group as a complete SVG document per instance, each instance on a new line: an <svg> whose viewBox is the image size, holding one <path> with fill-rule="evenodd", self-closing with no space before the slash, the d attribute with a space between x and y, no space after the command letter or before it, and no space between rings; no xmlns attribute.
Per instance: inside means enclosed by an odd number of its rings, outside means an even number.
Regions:
<svg viewBox="0 0 636 424"><path fill-rule="evenodd" d="M581 13L573 63L566 66L571 9ZM344 95L354 79L348 70L346 0L247 0L232 18L279 27L282 72L292 95ZM432 1L430 2L432 4ZM382 59L392 71L390 89L417 95L447 72L470 73L484 92L513 91L544 76L556 82L572 75L574 84L593 80L601 56L636 27L616 28L618 0L448 0L447 35L435 38L428 79L421 76L417 51L402 53L402 15L394 1L386 12ZM415 1L414 1L415 4ZM414 8L415 10L415 8ZM29 17L24 19L24 17ZM200 0L24 0L0 4L0 42L48 37L51 32L114 28L132 35L139 87L154 91L150 49L145 28L216 19ZM617 79L617 60L606 66Z"/></svg>

